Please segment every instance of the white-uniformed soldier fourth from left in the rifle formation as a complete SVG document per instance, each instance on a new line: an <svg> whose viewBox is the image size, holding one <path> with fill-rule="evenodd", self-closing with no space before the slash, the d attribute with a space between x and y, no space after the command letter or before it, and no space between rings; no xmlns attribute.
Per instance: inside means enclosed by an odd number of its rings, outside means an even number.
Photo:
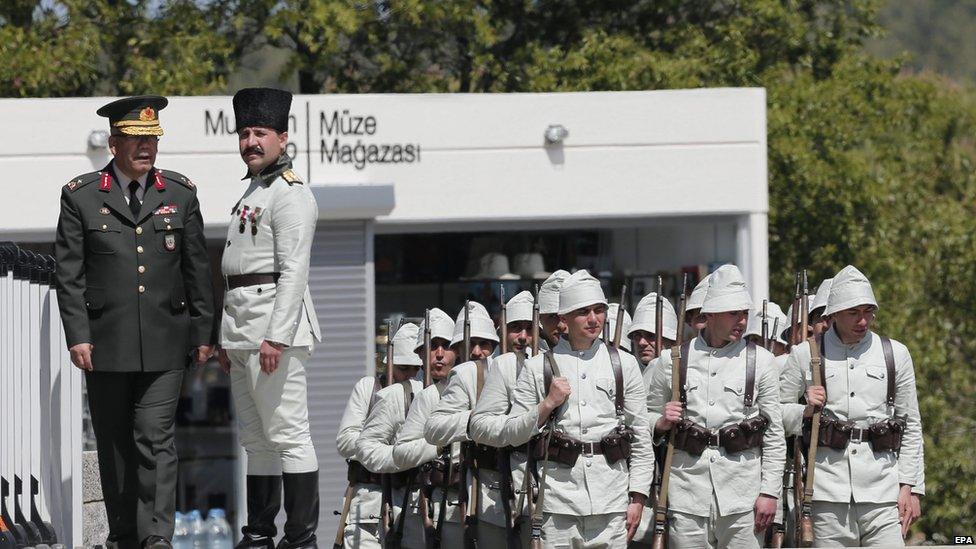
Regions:
<svg viewBox="0 0 976 549"><path fill-rule="evenodd" d="M526 352L532 345L532 306L533 298L529 292L516 294L508 301L506 304L507 336L509 346L515 350L497 356L490 363L465 362L454 368L448 378L444 394L441 395L440 403L427 420L427 442L440 447L456 442L461 443L462 456L468 461L469 492L473 476L478 476L480 491L477 539L484 547L502 547L507 544L506 513L511 513L511 486L514 485L512 478L517 477L521 481L522 477L519 471L514 474L511 471L507 448L483 443L476 445L472 442L468 427L469 420L472 409L480 400L480 396L484 395L487 378L494 375L492 372L495 369L503 368L506 372L511 372L512 377L516 371L521 370ZM477 326L472 319L472 336L490 328L490 324L484 319L481 319ZM479 387L479 380L481 387ZM520 458L521 466L524 468L525 454L522 453ZM507 470L502 471L503 467Z"/></svg>

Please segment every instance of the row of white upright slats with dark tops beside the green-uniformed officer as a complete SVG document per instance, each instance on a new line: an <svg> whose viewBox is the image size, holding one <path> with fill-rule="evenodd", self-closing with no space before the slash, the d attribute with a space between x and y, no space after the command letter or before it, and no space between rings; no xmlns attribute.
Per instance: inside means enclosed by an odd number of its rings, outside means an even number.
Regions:
<svg viewBox="0 0 976 549"><path fill-rule="evenodd" d="M54 268L51 256L0 243L0 545L82 543L82 375Z"/></svg>

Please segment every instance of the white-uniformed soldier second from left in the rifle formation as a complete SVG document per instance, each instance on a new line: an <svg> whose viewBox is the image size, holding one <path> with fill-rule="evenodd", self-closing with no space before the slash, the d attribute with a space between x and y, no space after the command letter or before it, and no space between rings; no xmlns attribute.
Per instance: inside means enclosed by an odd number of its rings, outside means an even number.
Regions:
<svg viewBox="0 0 976 549"><path fill-rule="evenodd" d="M456 355L450 345L454 321L440 309L430 310L430 356L432 379L446 377L454 367ZM423 356L424 324L417 331L414 352ZM356 456L360 463L374 473L393 474L392 507L394 522L391 533L402 533L406 549L424 549L424 529L420 518L420 490L422 474L414 466L401 467L394 460L397 435L403 429L407 409L424 390L416 379L397 383L376 393L376 403L366 417L357 441ZM404 505L406 502L406 505ZM402 510L406 508L406 513ZM381 540L382 541L382 540Z"/></svg>

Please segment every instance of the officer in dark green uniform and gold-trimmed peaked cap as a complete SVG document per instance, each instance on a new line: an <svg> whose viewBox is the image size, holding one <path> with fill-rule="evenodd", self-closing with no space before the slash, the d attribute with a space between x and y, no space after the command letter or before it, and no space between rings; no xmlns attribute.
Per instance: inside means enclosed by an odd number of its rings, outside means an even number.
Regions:
<svg viewBox="0 0 976 549"><path fill-rule="evenodd" d="M171 547L183 369L215 340L196 188L153 165L166 104L141 96L99 109L114 158L61 192L58 305L85 371L109 547Z"/></svg>

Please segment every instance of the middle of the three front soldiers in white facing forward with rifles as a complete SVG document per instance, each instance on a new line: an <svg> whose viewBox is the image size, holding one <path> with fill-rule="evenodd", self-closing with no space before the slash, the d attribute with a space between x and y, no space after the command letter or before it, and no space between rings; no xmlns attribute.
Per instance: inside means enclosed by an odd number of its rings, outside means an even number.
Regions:
<svg viewBox="0 0 976 549"><path fill-rule="evenodd" d="M683 398L671 400L673 349L645 372L655 434L678 429L668 494L672 549L759 547L776 513L786 452L779 372L768 351L744 338L751 308L739 269L723 265L709 278L704 330L681 348Z"/></svg>

